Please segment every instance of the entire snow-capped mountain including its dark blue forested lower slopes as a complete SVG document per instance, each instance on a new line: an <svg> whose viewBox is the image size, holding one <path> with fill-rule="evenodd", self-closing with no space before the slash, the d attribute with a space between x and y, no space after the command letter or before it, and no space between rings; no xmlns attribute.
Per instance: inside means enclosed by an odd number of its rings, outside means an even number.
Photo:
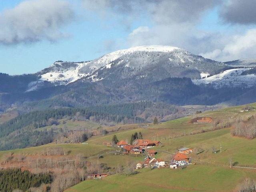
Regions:
<svg viewBox="0 0 256 192"><path fill-rule="evenodd" d="M36 74L0 74L0 93L4 93L0 110L30 101L42 102L24 104L23 110L140 100L183 105L233 99L238 104L241 90L256 102L253 62L222 63L178 47L157 45L118 50L87 62L57 61ZM225 89L218 89L223 86Z"/></svg>

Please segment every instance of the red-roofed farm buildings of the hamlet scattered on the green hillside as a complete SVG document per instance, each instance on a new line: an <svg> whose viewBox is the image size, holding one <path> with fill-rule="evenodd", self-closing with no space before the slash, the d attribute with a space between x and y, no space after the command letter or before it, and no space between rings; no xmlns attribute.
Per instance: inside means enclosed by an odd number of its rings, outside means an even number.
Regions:
<svg viewBox="0 0 256 192"><path fill-rule="evenodd" d="M212 123L212 118L204 117L204 118L194 118L190 121L191 124L208 124ZM129 144L130 143L130 144ZM118 141L116 135L113 136L112 141L104 141L102 145L116 148L115 154L120 155L133 155L133 156L142 156L142 160L138 161L134 164L134 169L142 169L142 168L186 168L187 165L192 165L192 158L189 157L194 149L187 148L183 146L176 150L176 153L170 153L167 151L160 150L164 146L159 140L149 140L143 139L142 133L135 132L132 134L130 142L128 140L120 140ZM158 147L159 146L159 147ZM155 147L158 147L155 150ZM169 156L166 158L158 158L158 152L164 152ZM102 157L102 156L100 156ZM193 164L196 164L195 162ZM91 174L88 178L103 178L107 176L107 174Z"/></svg>

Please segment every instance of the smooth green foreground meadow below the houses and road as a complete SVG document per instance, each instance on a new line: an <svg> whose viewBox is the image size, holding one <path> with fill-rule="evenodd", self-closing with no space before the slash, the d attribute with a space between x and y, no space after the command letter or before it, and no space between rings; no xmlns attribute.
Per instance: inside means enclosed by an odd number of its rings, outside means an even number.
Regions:
<svg viewBox="0 0 256 192"><path fill-rule="evenodd" d="M218 166L191 165L186 169L170 168L140 170L136 175L112 175L102 180L87 180L65 192L100 191L161 191L161 192L227 192L233 191L245 177L254 177L252 171L241 171Z"/></svg>

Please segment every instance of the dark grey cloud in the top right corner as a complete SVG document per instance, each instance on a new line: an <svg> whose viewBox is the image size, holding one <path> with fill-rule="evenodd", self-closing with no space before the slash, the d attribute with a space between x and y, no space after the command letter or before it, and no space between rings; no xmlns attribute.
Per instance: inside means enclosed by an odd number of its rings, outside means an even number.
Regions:
<svg viewBox="0 0 256 192"><path fill-rule="evenodd" d="M220 12L221 18L232 24L256 24L255 0L230 0Z"/></svg>

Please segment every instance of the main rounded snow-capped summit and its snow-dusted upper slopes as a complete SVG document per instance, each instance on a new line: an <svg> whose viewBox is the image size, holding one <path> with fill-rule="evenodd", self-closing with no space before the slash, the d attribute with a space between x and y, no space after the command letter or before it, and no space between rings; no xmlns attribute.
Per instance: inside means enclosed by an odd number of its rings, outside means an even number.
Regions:
<svg viewBox="0 0 256 192"><path fill-rule="evenodd" d="M216 74L226 65L194 55L173 46L138 46L106 54L90 62L58 61L39 72L41 78L32 82L28 90L35 90L40 81L67 85L80 78L96 82L113 78L162 80L168 77L201 78L202 74ZM157 75L156 75L157 74Z"/></svg>

